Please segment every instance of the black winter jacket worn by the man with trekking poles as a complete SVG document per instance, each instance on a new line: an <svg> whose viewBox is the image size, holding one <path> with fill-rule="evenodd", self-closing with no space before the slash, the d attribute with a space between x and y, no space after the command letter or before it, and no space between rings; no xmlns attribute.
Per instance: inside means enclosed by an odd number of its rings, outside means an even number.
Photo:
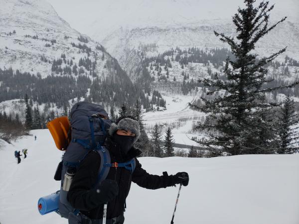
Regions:
<svg viewBox="0 0 299 224"><path fill-rule="evenodd" d="M111 154L111 163L127 162L132 158L140 155L141 151L132 147L126 158L123 158L120 152L120 147L109 138L106 143L106 148ZM96 189L93 186L97 182L98 171L100 167L101 157L91 151L80 163L78 171L74 176L70 186L67 200L70 204L81 211L90 219L102 219L104 205L97 203L95 195ZM107 207L107 219L112 219L123 214L126 208L126 198L129 194L131 182L138 184L140 187L147 189L166 188L174 185L172 175L168 176L163 172L163 176L151 175L144 170L140 162L136 159L136 168L133 172L124 167L118 167L117 170L111 167L107 179L115 180L119 185L119 194L115 200L110 201Z"/></svg>

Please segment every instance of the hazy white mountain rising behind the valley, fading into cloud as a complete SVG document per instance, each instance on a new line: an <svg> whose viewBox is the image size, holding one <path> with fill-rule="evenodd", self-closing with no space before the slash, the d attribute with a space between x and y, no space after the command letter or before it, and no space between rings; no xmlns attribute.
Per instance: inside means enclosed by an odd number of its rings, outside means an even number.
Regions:
<svg viewBox="0 0 299 224"><path fill-rule="evenodd" d="M213 30L234 35L231 16L236 13L238 6L244 6L240 0L89 0L84 1L84 4L91 7L80 7L80 14L88 18L82 19L73 11L82 2L48 1L72 26L106 46L128 73L134 73L136 66L132 59L135 58L135 63L139 63L134 54L142 45L156 44L154 52L146 52L148 56L176 46L224 46ZM260 55L269 55L288 46L285 55L298 60L299 1L271 0L270 3L276 4L271 21L275 22L283 16L288 16L288 20L262 39L256 50ZM73 13L66 12L66 7L71 8Z"/></svg>

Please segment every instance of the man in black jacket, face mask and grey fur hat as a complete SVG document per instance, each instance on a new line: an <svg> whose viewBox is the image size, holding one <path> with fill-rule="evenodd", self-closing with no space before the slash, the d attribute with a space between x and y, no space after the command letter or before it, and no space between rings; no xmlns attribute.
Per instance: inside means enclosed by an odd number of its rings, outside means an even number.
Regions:
<svg viewBox="0 0 299 224"><path fill-rule="evenodd" d="M95 151L87 154L80 163L67 195L70 204L87 217L82 224L102 224L104 203L107 202L107 224L123 224L126 198L132 181L147 189L166 188L175 184L188 185L189 177L186 172L170 176L163 172L162 176L158 176L151 175L142 168L136 158L141 151L133 147L140 136L136 120L121 118L117 123L112 123L109 134L105 146L110 152L111 163L123 163L135 158L136 168L131 173L124 167L111 167L106 180L94 187L101 157Z"/></svg>

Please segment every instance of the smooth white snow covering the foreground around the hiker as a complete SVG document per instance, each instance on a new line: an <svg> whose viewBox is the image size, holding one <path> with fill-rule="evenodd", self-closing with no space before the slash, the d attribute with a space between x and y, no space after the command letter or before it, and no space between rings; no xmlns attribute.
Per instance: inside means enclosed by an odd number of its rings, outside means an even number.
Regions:
<svg viewBox="0 0 299 224"><path fill-rule="evenodd" d="M58 190L53 175L61 152L48 130L31 131L12 145L0 140L0 223L67 224L37 211L37 200ZM33 136L37 139L34 141ZM16 164L14 150L28 148ZM217 158L139 159L151 174L189 173L175 224L298 224L299 155L242 155ZM132 184L125 213L128 224L169 223L178 188L147 190Z"/></svg>

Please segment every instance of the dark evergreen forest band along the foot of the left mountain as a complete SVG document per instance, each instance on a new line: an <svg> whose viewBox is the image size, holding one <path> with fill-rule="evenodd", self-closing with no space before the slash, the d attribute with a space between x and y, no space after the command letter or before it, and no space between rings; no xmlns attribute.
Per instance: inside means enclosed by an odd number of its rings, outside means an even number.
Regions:
<svg viewBox="0 0 299 224"><path fill-rule="evenodd" d="M55 103L58 108L68 105L67 102L74 98L84 98L86 101L106 104L110 107L121 107L123 104L132 106L139 99L144 109L152 108L149 90L146 94L142 88L133 84L116 60L109 61L107 67L114 69L115 72L111 72L104 79L93 78L86 74L76 77L51 75L41 78L40 74L21 73L18 70L13 72L11 68L0 69L0 102L23 99L27 94L39 105ZM90 94L87 96L88 89ZM165 101L160 94L158 95L154 96L155 104L159 102L157 106L165 107Z"/></svg>

